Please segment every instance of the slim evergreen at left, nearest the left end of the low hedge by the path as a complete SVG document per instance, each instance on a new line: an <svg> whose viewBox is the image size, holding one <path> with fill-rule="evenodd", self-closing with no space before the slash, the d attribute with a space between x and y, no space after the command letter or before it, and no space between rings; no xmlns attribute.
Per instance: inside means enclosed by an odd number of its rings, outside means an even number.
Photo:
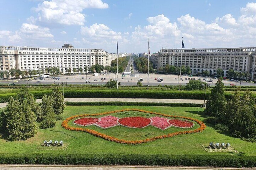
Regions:
<svg viewBox="0 0 256 170"><path fill-rule="evenodd" d="M53 100L53 110L56 115L60 115L64 112L65 103L62 92L59 91L58 87L53 87L51 93L51 98Z"/></svg>

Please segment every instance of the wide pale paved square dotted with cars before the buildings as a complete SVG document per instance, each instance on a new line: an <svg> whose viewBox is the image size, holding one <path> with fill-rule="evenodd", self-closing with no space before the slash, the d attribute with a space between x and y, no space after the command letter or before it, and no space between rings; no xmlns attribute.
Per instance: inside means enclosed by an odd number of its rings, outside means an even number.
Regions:
<svg viewBox="0 0 256 170"><path fill-rule="evenodd" d="M118 75L118 82L121 82L121 85L137 85L138 80L140 80L141 78L143 79L142 81L142 85L147 85L147 74L136 74L136 77L131 77L130 75L122 75L121 73L119 73ZM52 79L52 77L50 78L46 78L45 80L41 80L41 82L37 82L39 80L28 80L28 82L26 80L17 80L18 82L13 82L13 80L0 80L0 85L1 84L11 84L14 83L16 84L58 84L59 82L67 82L68 84L86 84L85 80L86 80L86 75L85 74L76 74L76 75L63 75L63 76L56 76L59 77L60 79L54 80ZM103 81L101 81L101 78L105 79ZM157 78L162 78L163 82L157 82ZM155 86L155 85L178 85L178 76L177 75L165 75L165 74L149 74L149 85L150 86ZM191 79L191 77L188 76L181 76L181 78L183 79L181 81L181 85L186 85L190 80L188 80L188 78ZM187 78L187 80L186 80ZM203 77L197 77L197 76L193 76L192 78L197 79L201 79L203 80ZM92 84L92 85L103 85L105 84L105 82L109 81L110 79L116 79L116 75L114 74L106 74L106 75L99 75L99 76L93 76L92 74L88 74L87 75L87 79L88 81L90 81L90 83L87 84ZM208 78L210 79L210 78ZM213 82L207 82L209 85L215 85L215 83L217 82L218 79L213 79ZM222 80L222 82L224 83L224 85L236 85L239 86L240 82L235 82L235 81L226 81L226 80ZM241 82L242 86L256 86L256 84L254 83L248 83L248 82Z"/></svg>

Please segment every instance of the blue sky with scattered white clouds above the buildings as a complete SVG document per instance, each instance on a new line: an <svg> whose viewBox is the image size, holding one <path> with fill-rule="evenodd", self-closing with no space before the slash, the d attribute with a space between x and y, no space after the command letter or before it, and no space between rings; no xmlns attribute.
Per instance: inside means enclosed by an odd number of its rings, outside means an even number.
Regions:
<svg viewBox="0 0 256 170"><path fill-rule="evenodd" d="M256 1L1 0L0 45L99 48L256 46Z"/></svg>

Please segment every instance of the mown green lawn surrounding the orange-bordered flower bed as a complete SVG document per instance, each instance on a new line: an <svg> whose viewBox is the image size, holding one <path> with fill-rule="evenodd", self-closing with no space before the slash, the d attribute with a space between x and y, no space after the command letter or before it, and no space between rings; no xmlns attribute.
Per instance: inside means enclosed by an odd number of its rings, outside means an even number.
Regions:
<svg viewBox="0 0 256 170"><path fill-rule="evenodd" d="M187 116L194 119L203 120L205 116L203 114L203 108L199 107L152 107L152 106L66 106L63 119L66 119L73 115L85 114L85 113L101 113L113 110L121 109L142 109L158 113ZM122 115L116 115L122 116ZM175 136L173 138L165 138L149 143L139 145L127 145L118 144L111 141L95 137L91 134L81 131L69 131L61 127L60 120L56 123L54 128L39 129L35 137L26 141L6 141L5 138L0 136L0 154L1 153L59 153L59 154L171 154L171 155L246 155L256 156L255 143L242 141L238 138L230 137L228 134L223 134L214 130L210 125L201 133L184 134ZM81 127L81 126L80 126ZM95 127L96 128L96 127ZM114 127L115 128L115 127ZM144 135L151 134L151 129L154 127L147 127L143 129ZM129 128L106 129L116 135L125 136ZM137 129L139 130L139 129ZM142 130L142 129L140 129ZM154 129L158 130L157 128ZM105 131L101 129L101 131ZM146 134L149 133L149 134ZM106 133L110 133L107 132ZM140 132L142 134L142 132ZM138 135L138 134L136 134ZM137 138L137 136L130 134L127 138ZM125 137L126 138L126 137ZM144 138L144 137L142 137ZM37 148L44 140L63 140L65 144L69 144L66 150L38 150ZM212 142L229 142L238 153L217 153L206 152L201 144L208 144Z"/></svg>

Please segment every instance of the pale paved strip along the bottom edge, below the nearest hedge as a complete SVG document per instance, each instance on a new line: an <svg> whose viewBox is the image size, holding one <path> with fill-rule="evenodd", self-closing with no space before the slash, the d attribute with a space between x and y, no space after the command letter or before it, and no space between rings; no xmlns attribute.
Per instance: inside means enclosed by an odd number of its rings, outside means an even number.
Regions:
<svg viewBox="0 0 256 170"><path fill-rule="evenodd" d="M168 167L168 166L102 166L102 165L0 165L0 170L255 170L255 168L216 168L216 167Z"/></svg>

